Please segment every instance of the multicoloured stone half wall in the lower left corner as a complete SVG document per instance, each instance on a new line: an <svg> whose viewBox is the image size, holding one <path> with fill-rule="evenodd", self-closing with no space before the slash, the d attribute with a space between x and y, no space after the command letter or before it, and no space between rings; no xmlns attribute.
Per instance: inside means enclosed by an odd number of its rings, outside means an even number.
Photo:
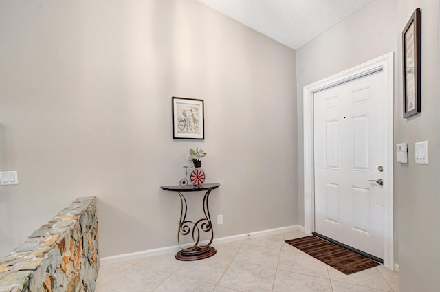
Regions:
<svg viewBox="0 0 440 292"><path fill-rule="evenodd" d="M98 270L96 198L79 198L0 259L0 292L92 292Z"/></svg>

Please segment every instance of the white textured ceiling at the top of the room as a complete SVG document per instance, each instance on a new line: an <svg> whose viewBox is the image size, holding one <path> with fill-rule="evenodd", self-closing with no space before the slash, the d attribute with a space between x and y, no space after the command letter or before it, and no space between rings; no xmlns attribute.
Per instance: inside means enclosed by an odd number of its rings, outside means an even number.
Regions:
<svg viewBox="0 0 440 292"><path fill-rule="evenodd" d="M298 49L373 0L198 0Z"/></svg>

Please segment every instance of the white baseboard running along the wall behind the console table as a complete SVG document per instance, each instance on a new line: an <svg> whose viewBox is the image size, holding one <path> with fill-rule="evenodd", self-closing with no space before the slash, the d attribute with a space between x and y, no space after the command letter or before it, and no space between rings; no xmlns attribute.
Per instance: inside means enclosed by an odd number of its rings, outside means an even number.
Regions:
<svg viewBox="0 0 440 292"><path fill-rule="evenodd" d="M237 240L244 240L246 238L250 237L259 237L259 236L269 236L274 234L280 234L285 232L292 232L292 231L302 231L304 232L304 227L300 225L294 225L294 226L287 226L287 227L281 227L281 228L275 228L275 229L267 229L259 232L250 232L248 234L238 234L234 236L226 236L222 238L216 238L212 242L213 244L216 243L231 243L233 241ZM208 243L208 242L206 242ZM206 243L201 243L206 244ZM190 247L191 244L182 245L182 247ZM100 264L102 265L108 265L108 264L114 264L117 262L125 262L127 260L137 260L140 258L145 258L147 256L159 256L162 254L175 254L177 251L180 250L179 245L173 245L170 247L160 247L157 249L147 249L144 251L137 251L130 254L119 254L117 256L106 256L104 258L100 258Z"/></svg>

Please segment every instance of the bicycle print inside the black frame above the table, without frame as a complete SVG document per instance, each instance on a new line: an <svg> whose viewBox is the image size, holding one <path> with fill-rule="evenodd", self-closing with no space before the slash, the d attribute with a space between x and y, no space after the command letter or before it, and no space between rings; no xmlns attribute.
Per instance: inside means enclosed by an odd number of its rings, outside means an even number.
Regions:
<svg viewBox="0 0 440 292"><path fill-rule="evenodd" d="M177 102L177 133L200 134L198 104Z"/></svg>

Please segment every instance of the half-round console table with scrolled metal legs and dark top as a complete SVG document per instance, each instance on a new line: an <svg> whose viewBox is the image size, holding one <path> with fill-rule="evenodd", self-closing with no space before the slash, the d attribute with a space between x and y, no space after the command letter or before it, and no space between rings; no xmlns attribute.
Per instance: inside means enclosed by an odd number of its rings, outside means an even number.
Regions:
<svg viewBox="0 0 440 292"><path fill-rule="evenodd" d="M217 251L214 247L211 247L212 240L214 240L214 231L212 230L211 217L209 214L208 199L212 190L219 188L220 183L205 183L202 186L161 186L162 189L169 192L177 192L180 196L181 210L179 229L177 231L177 243L181 251L176 254L177 260L201 260L202 258L209 258L214 256ZM199 219L196 222L186 220L186 199L184 194L188 192L205 192L203 196L203 213L204 218ZM211 238L207 245L199 245L200 232L210 232ZM188 248L182 248L180 245L180 237L191 234L194 245Z"/></svg>

